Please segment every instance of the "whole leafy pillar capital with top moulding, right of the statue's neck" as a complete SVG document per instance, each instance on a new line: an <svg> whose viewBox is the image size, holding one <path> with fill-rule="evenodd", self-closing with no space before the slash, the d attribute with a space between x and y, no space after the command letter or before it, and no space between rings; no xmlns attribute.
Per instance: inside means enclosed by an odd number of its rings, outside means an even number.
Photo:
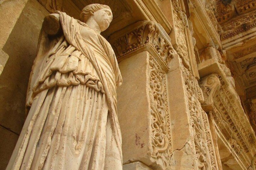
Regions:
<svg viewBox="0 0 256 170"><path fill-rule="evenodd" d="M110 36L117 59L146 48L154 51L159 64L169 69L169 63L177 52L172 47L171 39L161 25L153 21L139 21ZM164 70L166 70L164 69Z"/></svg>

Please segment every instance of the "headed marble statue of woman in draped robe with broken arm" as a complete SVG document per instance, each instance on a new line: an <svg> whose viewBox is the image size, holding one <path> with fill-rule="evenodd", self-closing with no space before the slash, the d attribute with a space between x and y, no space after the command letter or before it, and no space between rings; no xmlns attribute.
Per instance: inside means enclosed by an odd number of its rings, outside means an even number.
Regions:
<svg viewBox="0 0 256 170"><path fill-rule="evenodd" d="M116 88L122 77L110 44L107 5L80 20L45 17L31 71L28 116L7 169L122 169Z"/></svg>

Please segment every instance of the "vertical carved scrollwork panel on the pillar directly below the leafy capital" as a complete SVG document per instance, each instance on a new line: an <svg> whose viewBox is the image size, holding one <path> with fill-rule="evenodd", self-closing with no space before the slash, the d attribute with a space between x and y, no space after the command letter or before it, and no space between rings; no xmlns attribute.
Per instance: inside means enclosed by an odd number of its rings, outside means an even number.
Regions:
<svg viewBox="0 0 256 170"><path fill-rule="evenodd" d="M172 153L166 73L151 55L149 56L149 86L152 152L148 154L155 159L156 164L166 169Z"/></svg>

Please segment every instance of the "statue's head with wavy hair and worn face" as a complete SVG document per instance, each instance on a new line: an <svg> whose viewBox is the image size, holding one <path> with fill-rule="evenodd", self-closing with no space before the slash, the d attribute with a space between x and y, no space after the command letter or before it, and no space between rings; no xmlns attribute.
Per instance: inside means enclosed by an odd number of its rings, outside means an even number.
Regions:
<svg viewBox="0 0 256 170"><path fill-rule="evenodd" d="M93 19L99 25L102 32L108 28L113 19L112 11L107 5L87 5L80 14L80 21L86 23L89 19Z"/></svg>

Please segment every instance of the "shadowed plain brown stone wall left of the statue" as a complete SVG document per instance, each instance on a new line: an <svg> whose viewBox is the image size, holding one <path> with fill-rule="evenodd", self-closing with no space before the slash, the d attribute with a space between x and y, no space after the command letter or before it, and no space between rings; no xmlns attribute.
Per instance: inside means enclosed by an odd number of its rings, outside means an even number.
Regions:
<svg viewBox="0 0 256 170"><path fill-rule="evenodd" d="M29 74L47 14L38 1L29 0L2 48L9 58L0 75L0 169L7 166L25 121Z"/></svg>

